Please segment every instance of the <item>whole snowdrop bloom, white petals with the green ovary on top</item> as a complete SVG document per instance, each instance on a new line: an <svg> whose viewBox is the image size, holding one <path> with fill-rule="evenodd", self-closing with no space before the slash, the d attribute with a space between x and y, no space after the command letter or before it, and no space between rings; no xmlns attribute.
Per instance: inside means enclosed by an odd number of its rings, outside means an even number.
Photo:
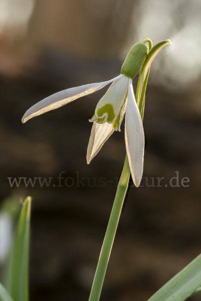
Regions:
<svg viewBox="0 0 201 301"><path fill-rule="evenodd" d="M93 117L89 120L93 122L93 125L87 147L87 164L96 156L113 131L120 131L120 125L125 114L126 153L132 180L134 185L138 187L143 172L144 132L140 112L134 98L132 79L137 75L147 57L148 47L145 44L146 42L147 39L142 43L135 44L130 49L121 67L120 75L108 81L69 88L46 97L25 112L22 122L24 123L32 117L57 109L111 83L107 92L97 103ZM148 68L146 68L146 73L147 70ZM142 74L143 76L144 74ZM145 76L142 81L144 81Z"/></svg>

